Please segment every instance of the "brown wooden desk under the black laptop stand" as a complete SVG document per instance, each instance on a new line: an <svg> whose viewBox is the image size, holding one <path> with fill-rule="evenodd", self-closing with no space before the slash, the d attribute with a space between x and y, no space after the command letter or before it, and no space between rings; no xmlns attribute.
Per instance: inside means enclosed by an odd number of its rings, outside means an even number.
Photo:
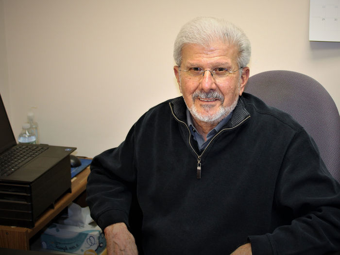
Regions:
<svg viewBox="0 0 340 255"><path fill-rule="evenodd" d="M66 193L54 204L53 209L47 209L35 222L34 228L12 227L0 225L0 247L20 250L30 249L30 239L43 229L53 218L64 208L72 203L80 194L85 191L87 176L90 173L89 167L77 174L71 183L72 192Z"/></svg>

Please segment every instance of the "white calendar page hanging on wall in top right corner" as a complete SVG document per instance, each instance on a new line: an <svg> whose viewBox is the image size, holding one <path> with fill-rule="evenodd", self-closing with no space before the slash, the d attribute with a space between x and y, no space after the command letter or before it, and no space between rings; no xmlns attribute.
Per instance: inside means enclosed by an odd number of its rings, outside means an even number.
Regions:
<svg viewBox="0 0 340 255"><path fill-rule="evenodd" d="M340 42L340 0L310 0L309 41Z"/></svg>

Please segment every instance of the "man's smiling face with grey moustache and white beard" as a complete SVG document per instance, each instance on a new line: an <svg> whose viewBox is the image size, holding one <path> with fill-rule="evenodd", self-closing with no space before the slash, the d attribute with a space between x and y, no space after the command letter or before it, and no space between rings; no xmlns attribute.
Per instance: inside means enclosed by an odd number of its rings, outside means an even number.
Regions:
<svg viewBox="0 0 340 255"><path fill-rule="evenodd" d="M249 68L243 68L241 78L237 71L218 82L209 71L204 72L198 81L186 79L187 72L179 69L190 68L202 70L228 68L235 71L238 69L237 49L235 46L220 42L209 47L188 44L182 49L181 67L174 67L180 91L194 120L217 124L236 106L238 96L242 94L248 81Z"/></svg>

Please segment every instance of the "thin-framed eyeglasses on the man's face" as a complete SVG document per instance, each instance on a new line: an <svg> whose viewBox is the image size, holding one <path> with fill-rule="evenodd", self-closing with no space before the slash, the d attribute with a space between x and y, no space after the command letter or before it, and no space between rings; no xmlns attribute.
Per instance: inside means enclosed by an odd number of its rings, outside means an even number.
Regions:
<svg viewBox="0 0 340 255"><path fill-rule="evenodd" d="M185 72L183 77L190 81L201 80L204 76L204 73L206 71L209 71L216 82L224 82L230 74L233 74L240 69L242 68L239 68L236 71L230 71L228 68L215 68L213 70L203 70L202 68L189 68L188 70L178 70Z"/></svg>

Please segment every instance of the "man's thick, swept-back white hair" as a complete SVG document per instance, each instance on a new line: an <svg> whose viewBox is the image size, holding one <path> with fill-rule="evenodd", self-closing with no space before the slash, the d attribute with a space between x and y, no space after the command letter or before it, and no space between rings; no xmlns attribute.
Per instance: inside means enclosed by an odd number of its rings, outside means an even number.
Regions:
<svg viewBox="0 0 340 255"><path fill-rule="evenodd" d="M248 65L251 46L246 34L234 24L214 17L197 17L182 27L176 37L173 49L176 65L181 66L182 49L186 44L207 47L216 41L236 46L238 68Z"/></svg>

